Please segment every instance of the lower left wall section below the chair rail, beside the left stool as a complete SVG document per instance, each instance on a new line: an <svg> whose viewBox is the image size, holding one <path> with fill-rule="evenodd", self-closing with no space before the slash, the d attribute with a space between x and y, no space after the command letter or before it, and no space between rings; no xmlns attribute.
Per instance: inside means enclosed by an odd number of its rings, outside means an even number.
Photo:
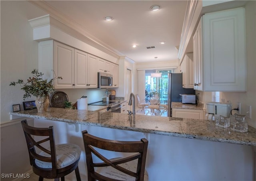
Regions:
<svg viewBox="0 0 256 181"><path fill-rule="evenodd" d="M28 147L20 121L1 124L1 174L3 173L32 173L32 167L29 162ZM28 124L34 125L34 119L28 118ZM2 178L1 181L10 181L13 178Z"/></svg>

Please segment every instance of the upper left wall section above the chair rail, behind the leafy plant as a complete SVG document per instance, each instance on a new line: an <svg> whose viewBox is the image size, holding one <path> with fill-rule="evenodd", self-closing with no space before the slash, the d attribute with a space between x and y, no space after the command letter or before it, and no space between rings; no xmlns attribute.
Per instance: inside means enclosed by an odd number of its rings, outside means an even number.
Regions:
<svg viewBox="0 0 256 181"><path fill-rule="evenodd" d="M22 107L24 101L20 86L10 82L26 80L38 69L38 42L33 41L28 9L42 16L42 10L27 1L1 1L1 123L10 120L12 104Z"/></svg>

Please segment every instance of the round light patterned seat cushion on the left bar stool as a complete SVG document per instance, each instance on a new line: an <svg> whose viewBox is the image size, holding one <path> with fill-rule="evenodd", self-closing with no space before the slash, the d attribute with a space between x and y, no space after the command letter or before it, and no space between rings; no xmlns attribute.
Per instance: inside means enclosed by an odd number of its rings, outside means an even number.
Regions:
<svg viewBox="0 0 256 181"><path fill-rule="evenodd" d="M50 149L49 149L50 150ZM74 163L80 158L81 148L75 144L59 144L56 145L56 159L57 169L66 167ZM39 155L50 157L50 155L44 151L41 151ZM35 163L41 168L52 168L52 163L40 161L35 159Z"/></svg>

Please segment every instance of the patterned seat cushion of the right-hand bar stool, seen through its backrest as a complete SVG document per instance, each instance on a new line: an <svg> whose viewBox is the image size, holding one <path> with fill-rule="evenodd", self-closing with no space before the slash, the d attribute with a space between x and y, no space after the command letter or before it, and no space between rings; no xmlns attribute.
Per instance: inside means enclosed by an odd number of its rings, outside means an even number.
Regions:
<svg viewBox="0 0 256 181"><path fill-rule="evenodd" d="M112 158L110 159L111 161L115 160L115 159L120 159L121 157L116 157L116 158ZM138 159L134 159L132 161L126 162L126 163L122 163L119 164L119 166L124 167L125 169L128 169L130 171L134 171L136 172L137 169L137 163L138 163ZM101 175L105 176L105 177L109 177L111 179L118 179L118 180L124 180L124 181L135 181L135 177L132 177L128 174L125 174L117 169L114 169L113 167L98 167L97 169L95 169L95 171L97 173L100 173ZM148 181L148 172L145 169L144 172L144 181Z"/></svg>

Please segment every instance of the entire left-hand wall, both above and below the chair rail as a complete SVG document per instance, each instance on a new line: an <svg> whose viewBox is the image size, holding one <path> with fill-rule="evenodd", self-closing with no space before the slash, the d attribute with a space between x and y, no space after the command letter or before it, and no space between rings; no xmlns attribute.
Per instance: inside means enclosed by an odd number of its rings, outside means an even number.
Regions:
<svg viewBox="0 0 256 181"><path fill-rule="evenodd" d="M20 120L10 122L12 104L22 107L23 94L20 86L11 87L11 81L28 79L31 71L38 68L38 42L28 19L30 13L42 16L44 12L27 1L0 1L1 3L1 173L27 173L28 149ZM31 98L30 100L33 100ZM30 125L33 121L30 121ZM3 179L2 180L13 180Z"/></svg>

